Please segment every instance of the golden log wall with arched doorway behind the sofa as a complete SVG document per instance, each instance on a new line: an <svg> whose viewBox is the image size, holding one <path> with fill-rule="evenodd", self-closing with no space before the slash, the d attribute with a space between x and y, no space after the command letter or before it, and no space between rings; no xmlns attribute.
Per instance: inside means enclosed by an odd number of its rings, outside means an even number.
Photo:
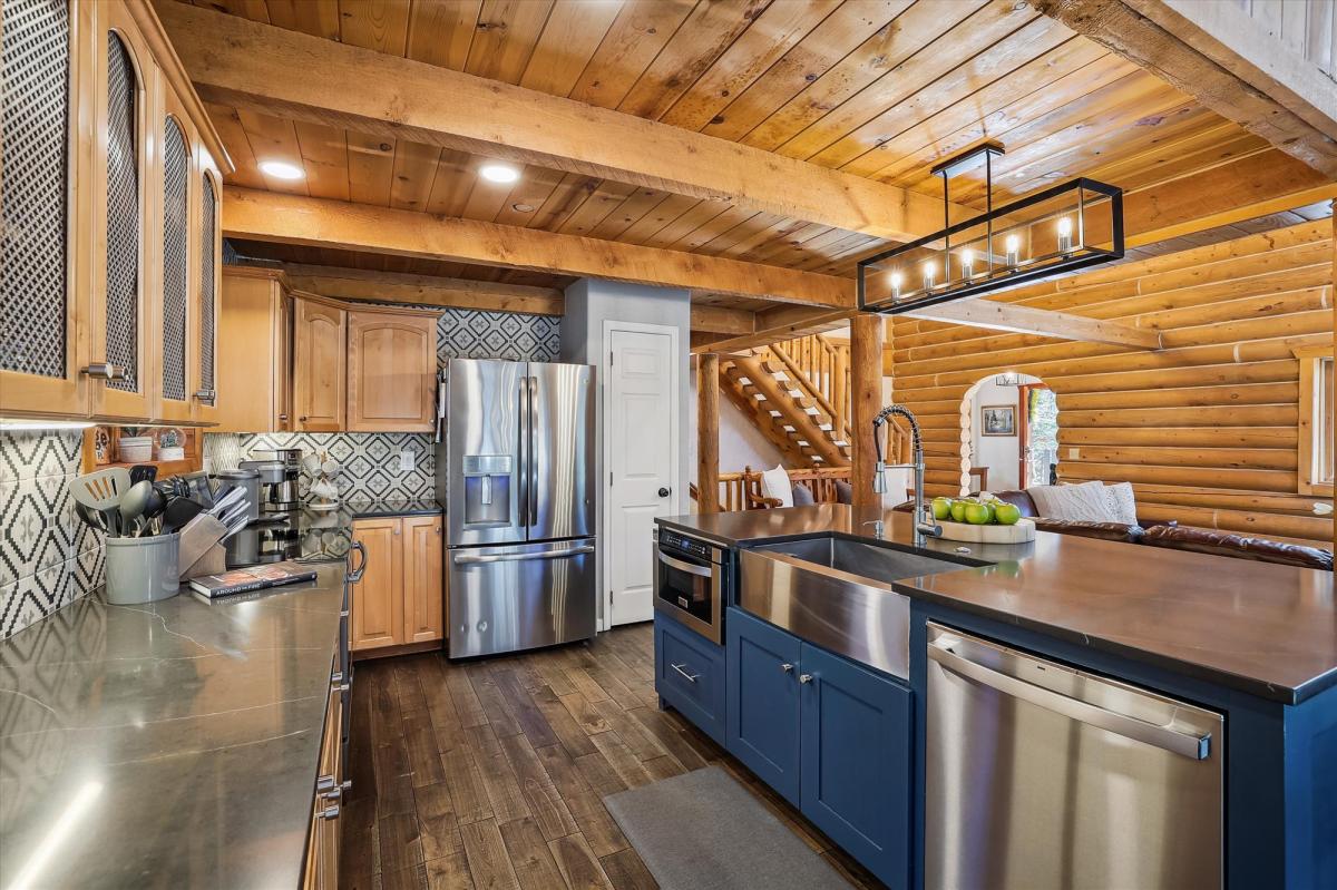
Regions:
<svg viewBox="0 0 1337 890"><path fill-rule="evenodd" d="M1059 404L1059 476L1131 481L1143 520L1333 541L1297 494L1297 346L1333 339L1333 226L1324 219L1009 291L1040 309L1162 331L1165 349L896 319L896 400L925 428L927 488L968 485L963 398L1003 370Z"/></svg>

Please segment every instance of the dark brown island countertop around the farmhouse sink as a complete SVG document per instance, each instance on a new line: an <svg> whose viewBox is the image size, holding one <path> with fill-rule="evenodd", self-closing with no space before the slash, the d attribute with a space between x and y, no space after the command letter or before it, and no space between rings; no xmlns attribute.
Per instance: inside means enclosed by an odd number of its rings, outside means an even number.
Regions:
<svg viewBox="0 0 1337 890"><path fill-rule="evenodd" d="M908 513L818 504L675 516L659 524L729 547L838 532L912 543ZM956 541L931 540L951 553ZM968 545L984 568L906 579L908 596L1082 643L1286 704L1337 684L1333 573L1039 532Z"/></svg>

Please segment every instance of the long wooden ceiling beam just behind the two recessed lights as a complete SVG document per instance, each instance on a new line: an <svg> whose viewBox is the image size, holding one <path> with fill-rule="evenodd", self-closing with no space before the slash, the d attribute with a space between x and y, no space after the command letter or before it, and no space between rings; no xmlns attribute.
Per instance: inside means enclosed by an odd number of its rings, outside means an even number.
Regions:
<svg viewBox="0 0 1337 890"><path fill-rule="evenodd" d="M854 282L849 278L231 186L223 190L223 234L660 287L709 287L717 293L813 306L854 305Z"/></svg>

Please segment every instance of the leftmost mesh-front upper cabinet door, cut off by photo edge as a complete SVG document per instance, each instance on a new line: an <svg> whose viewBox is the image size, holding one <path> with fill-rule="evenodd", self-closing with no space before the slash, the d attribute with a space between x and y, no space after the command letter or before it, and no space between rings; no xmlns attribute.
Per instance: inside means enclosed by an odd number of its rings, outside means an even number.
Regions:
<svg viewBox="0 0 1337 890"><path fill-rule="evenodd" d="M75 52L91 11L67 0L0 3L0 412L84 414L88 361L80 258L91 253L72 183L91 139L78 127L91 55ZM80 172L82 171L82 172ZM84 350L80 354L80 350Z"/></svg>

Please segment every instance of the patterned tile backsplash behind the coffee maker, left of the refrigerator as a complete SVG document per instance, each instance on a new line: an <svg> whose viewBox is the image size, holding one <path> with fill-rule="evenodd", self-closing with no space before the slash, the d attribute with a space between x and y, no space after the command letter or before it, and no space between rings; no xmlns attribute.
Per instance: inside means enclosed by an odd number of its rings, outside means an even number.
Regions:
<svg viewBox="0 0 1337 890"><path fill-rule="evenodd" d="M338 461L334 486L344 501L412 501L433 497L436 456L427 433L209 433L205 469L234 469L243 460L266 460L263 449L299 448ZM400 469L400 453L413 454L413 469ZM302 497L312 480L301 476Z"/></svg>

